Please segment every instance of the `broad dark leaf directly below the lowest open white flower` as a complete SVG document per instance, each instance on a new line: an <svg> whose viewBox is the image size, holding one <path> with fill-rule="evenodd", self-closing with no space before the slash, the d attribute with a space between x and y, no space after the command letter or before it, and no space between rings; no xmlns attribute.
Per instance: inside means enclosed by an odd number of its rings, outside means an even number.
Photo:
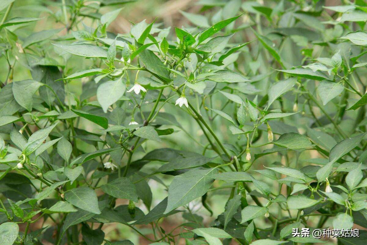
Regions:
<svg viewBox="0 0 367 245"><path fill-rule="evenodd" d="M102 185L101 188L103 192L112 197L129 199L133 202L138 202L135 185L132 184L127 178L121 177L115 179L107 184Z"/></svg>

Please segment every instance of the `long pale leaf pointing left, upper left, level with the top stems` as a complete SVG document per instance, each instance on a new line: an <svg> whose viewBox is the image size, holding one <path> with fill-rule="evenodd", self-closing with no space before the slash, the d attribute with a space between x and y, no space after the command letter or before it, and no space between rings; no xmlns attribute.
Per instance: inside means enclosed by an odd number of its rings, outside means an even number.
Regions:
<svg viewBox="0 0 367 245"><path fill-rule="evenodd" d="M52 45L61 48L62 50L68 52L69 54L86 57L86 58L107 58L107 51L99 46L87 43L80 44L55 44Z"/></svg>

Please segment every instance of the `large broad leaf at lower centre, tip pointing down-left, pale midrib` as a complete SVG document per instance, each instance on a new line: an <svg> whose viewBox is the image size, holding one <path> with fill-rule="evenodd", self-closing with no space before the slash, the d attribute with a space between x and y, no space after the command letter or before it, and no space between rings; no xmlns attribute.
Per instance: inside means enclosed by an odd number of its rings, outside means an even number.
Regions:
<svg viewBox="0 0 367 245"><path fill-rule="evenodd" d="M168 204L164 213L204 195L211 187L216 173L216 168L193 169L175 176L168 188Z"/></svg>

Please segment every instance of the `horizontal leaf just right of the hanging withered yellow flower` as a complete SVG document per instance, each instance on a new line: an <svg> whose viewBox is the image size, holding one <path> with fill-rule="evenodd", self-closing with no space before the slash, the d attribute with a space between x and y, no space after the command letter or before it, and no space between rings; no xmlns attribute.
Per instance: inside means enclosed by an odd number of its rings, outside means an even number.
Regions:
<svg viewBox="0 0 367 245"><path fill-rule="evenodd" d="M307 136L297 133L282 134L279 139L273 141L273 144L286 147L288 149L302 149L313 146Z"/></svg>

